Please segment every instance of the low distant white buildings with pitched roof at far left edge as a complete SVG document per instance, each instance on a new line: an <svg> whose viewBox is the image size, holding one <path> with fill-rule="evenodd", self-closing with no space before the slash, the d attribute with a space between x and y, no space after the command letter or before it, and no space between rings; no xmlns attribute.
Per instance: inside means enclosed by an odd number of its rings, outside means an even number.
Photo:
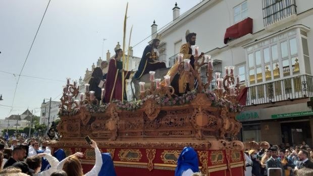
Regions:
<svg viewBox="0 0 313 176"><path fill-rule="evenodd" d="M0 119L0 134L7 129L23 129L29 126L32 113L27 109L22 114L12 114L8 118Z"/></svg>

